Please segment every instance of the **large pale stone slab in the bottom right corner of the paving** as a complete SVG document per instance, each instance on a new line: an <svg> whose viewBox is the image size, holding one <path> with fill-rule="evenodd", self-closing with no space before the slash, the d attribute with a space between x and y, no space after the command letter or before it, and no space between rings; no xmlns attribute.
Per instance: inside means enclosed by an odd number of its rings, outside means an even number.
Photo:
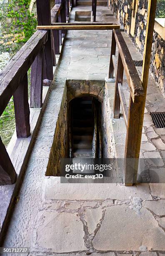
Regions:
<svg viewBox="0 0 165 256"><path fill-rule="evenodd" d="M145 208L137 215L129 206L116 205L106 209L102 225L94 237L94 248L100 251L165 250L165 232Z"/></svg>

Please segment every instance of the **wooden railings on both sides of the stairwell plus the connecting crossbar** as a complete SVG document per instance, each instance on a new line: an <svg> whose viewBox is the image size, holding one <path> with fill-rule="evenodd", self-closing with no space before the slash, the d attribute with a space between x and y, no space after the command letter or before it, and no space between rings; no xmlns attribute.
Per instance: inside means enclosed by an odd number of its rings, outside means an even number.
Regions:
<svg viewBox="0 0 165 256"><path fill-rule="evenodd" d="M17 137L30 136L30 110L28 103L28 69L31 66L30 108L42 107L43 79L53 79L55 54L60 53L62 34L70 29L113 29L110 55L109 77L115 70L114 118L120 117L120 103L127 126L125 143L125 184L136 181L142 133L141 103L144 101L142 83L136 71L128 47L120 33L120 26L112 24L69 24L68 2L57 3L50 11L50 0L37 0L38 30L29 41L11 59L0 74L0 115L5 110L13 95ZM117 68L114 56L116 45L119 51ZM123 72L130 87L130 105L127 105L122 91ZM140 139L139 139L140 138ZM16 179L15 169L0 139L0 184L13 184ZM133 159L130 161L129 159Z"/></svg>

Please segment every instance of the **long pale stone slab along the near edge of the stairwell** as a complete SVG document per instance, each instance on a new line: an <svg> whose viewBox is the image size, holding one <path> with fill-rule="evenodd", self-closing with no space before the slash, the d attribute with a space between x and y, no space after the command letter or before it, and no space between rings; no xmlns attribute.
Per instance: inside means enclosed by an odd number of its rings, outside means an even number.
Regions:
<svg viewBox="0 0 165 256"><path fill-rule="evenodd" d="M74 183L61 184L60 177L50 177L44 180L43 197L45 200L105 200L129 199L140 197L147 200L150 196L148 184L137 187L125 187L120 184Z"/></svg>

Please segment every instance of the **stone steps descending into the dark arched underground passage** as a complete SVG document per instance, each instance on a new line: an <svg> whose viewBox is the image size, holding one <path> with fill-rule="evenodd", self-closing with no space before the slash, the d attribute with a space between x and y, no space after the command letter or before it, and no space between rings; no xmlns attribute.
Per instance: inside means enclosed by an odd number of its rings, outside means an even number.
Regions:
<svg viewBox="0 0 165 256"><path fill-rule="evenodd" d="M77 98L72 104L73 157L92 158L94 116L92 98Z"/></svg>

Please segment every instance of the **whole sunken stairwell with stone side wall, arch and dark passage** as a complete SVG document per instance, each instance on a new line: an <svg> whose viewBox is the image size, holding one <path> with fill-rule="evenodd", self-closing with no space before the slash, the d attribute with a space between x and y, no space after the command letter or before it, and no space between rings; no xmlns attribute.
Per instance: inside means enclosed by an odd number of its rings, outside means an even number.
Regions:
<svg viewBox="0 0 165 256"><path fill-rule="evenodd" d="M66 81L59 112L55 113L57 121L46 176L61 176L64 159L74 162L103 158L104 90L105 82L101 80Z"/></svg>

